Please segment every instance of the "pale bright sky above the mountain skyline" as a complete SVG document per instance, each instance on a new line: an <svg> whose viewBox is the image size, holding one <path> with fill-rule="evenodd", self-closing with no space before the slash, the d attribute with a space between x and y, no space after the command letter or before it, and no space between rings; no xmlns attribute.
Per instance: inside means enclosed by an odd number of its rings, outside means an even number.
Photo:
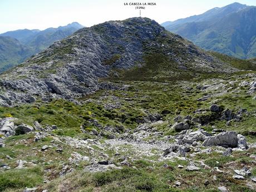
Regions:
<svg viewBox="0 0 256 192"><path fill-rule="evenodd" d="M139 16L124 2L155 2L142 10L142 17L159 23L201 14L233 2L256 6L255 0L0 0L0 33L16 29L45 29L79 22L90 27L110 20Z"/></svg>

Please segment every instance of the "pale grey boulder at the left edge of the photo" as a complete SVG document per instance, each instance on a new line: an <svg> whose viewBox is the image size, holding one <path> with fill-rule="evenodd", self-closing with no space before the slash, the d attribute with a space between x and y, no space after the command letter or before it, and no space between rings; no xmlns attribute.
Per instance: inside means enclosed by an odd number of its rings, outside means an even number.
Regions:
<svg viewBox="0 0 256 192"><path fill-rule="evenodd" d="M17 120L13 117L6 117L0 119L0 134L5 136L11 136L15 134L15 125L14 120Z"/></svg>

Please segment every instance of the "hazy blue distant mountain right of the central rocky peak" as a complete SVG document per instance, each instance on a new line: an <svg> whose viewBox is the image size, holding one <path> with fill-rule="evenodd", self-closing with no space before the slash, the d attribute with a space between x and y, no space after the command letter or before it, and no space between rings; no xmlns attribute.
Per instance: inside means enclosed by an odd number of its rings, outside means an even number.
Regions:
<svg viewBox="0 0 256 192"><path fill-rule="evenodd" d="M237 58L256 57L256 7L232 3L161 24L205 50Z"/></svg>

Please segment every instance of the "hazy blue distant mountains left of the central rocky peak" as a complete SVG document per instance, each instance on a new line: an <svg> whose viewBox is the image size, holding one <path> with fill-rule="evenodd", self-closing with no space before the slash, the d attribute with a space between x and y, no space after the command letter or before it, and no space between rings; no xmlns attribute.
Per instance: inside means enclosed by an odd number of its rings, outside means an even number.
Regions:
<svg viewBox="0 0 256 192"><path fill-rule="evenodd" d="M19 29L0 34L0 72L25 61L45 50L53 42L72 35L83 26L77 22L58 28Z"/></svg>

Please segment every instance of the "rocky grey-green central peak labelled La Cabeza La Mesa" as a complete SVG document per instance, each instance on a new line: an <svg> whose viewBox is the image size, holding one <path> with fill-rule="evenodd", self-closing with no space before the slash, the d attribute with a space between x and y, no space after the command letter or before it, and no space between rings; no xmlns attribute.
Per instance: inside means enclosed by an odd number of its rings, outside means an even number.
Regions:
<svg viewBox="0 0 256 192"><path fill-rule="evenodd" d="M99 78L109 72L121 78L120 70L134 67L145 69L144 75L138 74L141 80L236 70L155 21L131 18L80 29L3 73L0 83L11 92L21 91L14 102L26 102L32 95L71 99L98 90ZM7 91L5 101L11 100L11 95Z"/></svg>

